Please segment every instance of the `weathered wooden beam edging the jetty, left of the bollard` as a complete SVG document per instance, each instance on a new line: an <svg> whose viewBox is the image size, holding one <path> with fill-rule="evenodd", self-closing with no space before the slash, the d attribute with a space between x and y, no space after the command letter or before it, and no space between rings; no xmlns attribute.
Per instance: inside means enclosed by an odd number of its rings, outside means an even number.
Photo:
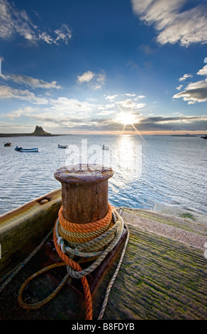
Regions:
<svg viewBox="0 0 207 334"><path fill-rule="evenodd" d="M28 257L42 242L54 227L61 205L60 188L0 217L0 277Z"/></svg>

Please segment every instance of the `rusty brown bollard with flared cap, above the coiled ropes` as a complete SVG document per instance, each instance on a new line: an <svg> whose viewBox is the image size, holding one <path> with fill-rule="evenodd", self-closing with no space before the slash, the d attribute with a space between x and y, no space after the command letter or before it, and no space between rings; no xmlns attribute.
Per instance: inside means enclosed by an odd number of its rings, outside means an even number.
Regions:
<svg viewBox="0 0 207 334"><path fill-rule="evenodd" d="M54 176L62 184L62 215L67 221L81 224L106 216L111 168L79 164L58 168Z"/></svg>

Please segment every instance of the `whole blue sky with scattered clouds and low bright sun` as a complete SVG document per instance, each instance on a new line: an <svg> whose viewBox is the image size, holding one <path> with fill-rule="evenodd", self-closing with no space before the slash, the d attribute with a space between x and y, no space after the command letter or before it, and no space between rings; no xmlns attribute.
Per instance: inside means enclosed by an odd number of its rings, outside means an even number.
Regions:
<svg viewBox="0 0 207 334"><path fill-rule="evenodd" d="M0 0L0 132L207 134L206 0Z"/></svg>

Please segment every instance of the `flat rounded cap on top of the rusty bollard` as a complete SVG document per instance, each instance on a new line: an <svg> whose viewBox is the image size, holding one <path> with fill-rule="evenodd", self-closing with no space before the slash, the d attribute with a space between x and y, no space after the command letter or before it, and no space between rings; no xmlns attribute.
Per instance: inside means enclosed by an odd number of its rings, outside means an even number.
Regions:
<svg viewBox="0 0 207 334"><path fill-rule="evenodd" d="M61 183L99 183L111 178L113 170L101 165L79 163L58 168L54 176Z"/></svg>

